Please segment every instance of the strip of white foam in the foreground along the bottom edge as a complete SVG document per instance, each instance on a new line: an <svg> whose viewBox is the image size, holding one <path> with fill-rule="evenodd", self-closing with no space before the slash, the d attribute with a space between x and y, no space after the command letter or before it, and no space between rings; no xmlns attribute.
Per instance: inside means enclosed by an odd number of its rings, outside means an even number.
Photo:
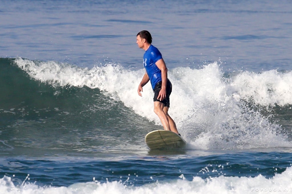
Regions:
<svg viewBox="0 0 292 194"><path fill-rule="evenodd" d="M160 183L156 181L143 186L126 186L121 181L100 183L98 180L87 183L75 183L68 187L38 186L36 183L26 182L15 186L11 177L4 176L0 179L0 191L2 194L34 193L34 194L102 194L102 193L291 193L292 167L288 167L283 173L275 174L272 178L262 175L257 177L219 177L202 179L193 177L192 181L184 179L181 175L177 180ZM150 178L149 178L150 179Z"/></svg>

